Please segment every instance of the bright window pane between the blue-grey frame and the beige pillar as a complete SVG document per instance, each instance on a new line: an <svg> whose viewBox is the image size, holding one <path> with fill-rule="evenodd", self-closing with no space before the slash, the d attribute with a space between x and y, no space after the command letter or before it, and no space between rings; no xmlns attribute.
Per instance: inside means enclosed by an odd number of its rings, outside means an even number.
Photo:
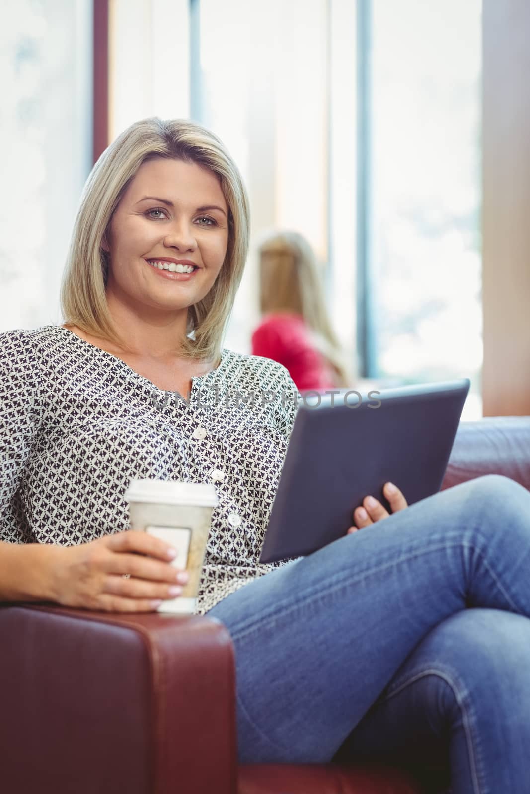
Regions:
<svg viewBox="0 0 530 794"><path fill-rule="evenodd" d="M480 415L481 0L362 0L364 374L471 376Z"/></svg>

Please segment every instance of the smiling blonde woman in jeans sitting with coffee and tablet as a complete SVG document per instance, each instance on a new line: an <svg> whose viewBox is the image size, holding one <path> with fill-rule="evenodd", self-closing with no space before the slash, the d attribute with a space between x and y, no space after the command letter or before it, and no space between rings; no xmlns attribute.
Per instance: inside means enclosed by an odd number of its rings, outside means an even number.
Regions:
<svg viewBox="0 0 530 794"><path fill-rule="evenodd" d="M199 125L139 121L95 164L64 326L0 335L0 599L156 609L185 573L128 530L126 486L215 482L199 611L234 639L242 761L385 760L420 736L424 754L447 746L455 794L522 794L524 488L486 477L407 507L387 484L393 515L367 496L344 538L257 563L296 403L280 364L220 351L248 225Z"/></svg>

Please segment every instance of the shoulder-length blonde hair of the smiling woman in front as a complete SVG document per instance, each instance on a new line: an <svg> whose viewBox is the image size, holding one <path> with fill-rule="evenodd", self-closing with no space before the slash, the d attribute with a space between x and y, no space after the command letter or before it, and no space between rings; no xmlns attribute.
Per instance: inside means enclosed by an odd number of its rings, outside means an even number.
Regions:
<svg viewBox="0 0 530 794"><path fill-rule="evenodd" d="M68 325L128 349L106 303L109 256L102 241L122 195L146 160L171 158L196 163L217 179L229 209L228 246L213 287L188 309L185 358L219 359L248 250L249 200L238 167L218 137L194 121L158 117L136 121L108 146L83 188L60 291Z"/></svg>

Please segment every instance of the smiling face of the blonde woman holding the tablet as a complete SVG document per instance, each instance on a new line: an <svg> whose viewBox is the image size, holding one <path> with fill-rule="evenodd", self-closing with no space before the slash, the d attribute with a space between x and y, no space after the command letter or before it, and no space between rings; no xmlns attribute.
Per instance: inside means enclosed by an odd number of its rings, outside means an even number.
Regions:
<svg viewBox="0 0 530 794"><path fill-rule="evenodd" d="M228 206L217 177L183 160L142 163L118 204L106 240L109 305L177 318L203 299L228 245Z"/></svg>

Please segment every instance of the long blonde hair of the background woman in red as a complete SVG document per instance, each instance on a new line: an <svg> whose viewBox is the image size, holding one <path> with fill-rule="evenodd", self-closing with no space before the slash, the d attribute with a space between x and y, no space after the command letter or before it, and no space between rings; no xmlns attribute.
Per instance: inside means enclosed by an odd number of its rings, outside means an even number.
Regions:
<svg viewBox="0 0 530 794"><path fill-rule="evenodd" d="M347 386L349 368L327 314L315 253L301 234L269 232L258 246L261 314L300 314L315 348L335 370L338 386ZM266 257L266 262L264 261Z"/></svg>

